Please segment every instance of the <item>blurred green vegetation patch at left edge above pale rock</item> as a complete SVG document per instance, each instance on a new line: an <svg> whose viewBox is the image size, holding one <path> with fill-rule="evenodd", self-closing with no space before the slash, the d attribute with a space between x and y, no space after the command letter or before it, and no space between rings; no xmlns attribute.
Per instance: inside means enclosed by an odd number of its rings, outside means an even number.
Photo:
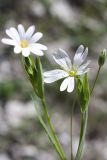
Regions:
<svg viewBox="0 0 107 160"><path fill-rule="evenodd" d="M12 80L0 82L0 99L3 102L6 102L9 99L15 97L22 101L28 101L30 100L30 94L30 86L26 86L26 84L23 81Z"/></svg>

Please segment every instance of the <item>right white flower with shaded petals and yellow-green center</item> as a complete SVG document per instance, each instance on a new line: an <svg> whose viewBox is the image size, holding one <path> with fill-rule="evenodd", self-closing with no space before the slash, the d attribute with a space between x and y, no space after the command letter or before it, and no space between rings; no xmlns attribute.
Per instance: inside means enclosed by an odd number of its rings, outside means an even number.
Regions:
<svg viewBox="0 0 107 160"><path fill-rule="evenodd" d="M60 91L67 89L67 92L72 92L74 90L75 77L89 71L89 68L87 67L90 61L87 61L85 64L83 64L87 55L88 48L84 50L84 46L80 45L75 53L73 63L71 63L67 53L64 50L59 49L58 52L53 54L53 58L55 62L59 64L61 69L44 72L44 82L52 83L64 78L60 86Z"/></svg>

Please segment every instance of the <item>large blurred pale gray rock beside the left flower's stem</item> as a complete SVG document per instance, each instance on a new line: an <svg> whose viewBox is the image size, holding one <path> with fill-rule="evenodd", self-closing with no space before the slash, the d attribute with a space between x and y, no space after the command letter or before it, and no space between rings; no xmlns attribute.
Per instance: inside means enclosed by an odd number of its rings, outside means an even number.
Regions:
<svg viewBox="0 0 107 160"><path fill-rule="evenodd" d="M17 127L24 118L35 117L36 111L33 102L21 103L9 101L6 104L6 118L9 125Z"/></svg>

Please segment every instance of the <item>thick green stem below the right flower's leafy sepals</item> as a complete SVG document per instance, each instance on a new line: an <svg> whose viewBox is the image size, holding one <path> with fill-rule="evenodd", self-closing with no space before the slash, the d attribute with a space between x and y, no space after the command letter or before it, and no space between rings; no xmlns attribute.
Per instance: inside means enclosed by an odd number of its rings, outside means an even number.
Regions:
<svg viewBox="0 0 107 160"><path fill-rule="evenodd" d="M77 150L75 160L81 160L81 157L82 157L82 151L83 151L84 141L85 141L85 134L86 134L86 129L87 129L87 120L88 120L88 109L84 113L82 113L80 140L79 140L79 145L78 145L78 150Z"/></svg>

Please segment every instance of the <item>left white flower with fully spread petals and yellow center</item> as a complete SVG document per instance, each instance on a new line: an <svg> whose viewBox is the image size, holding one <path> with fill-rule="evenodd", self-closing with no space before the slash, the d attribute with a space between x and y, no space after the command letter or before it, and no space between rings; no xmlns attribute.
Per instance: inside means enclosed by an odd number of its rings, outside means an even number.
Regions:
<svg viewBox="0 0 107 160"><path fill-rule="evenodd" d="M19 24L17 29L11 27L6 29L6 34L9 38L3 38L1 41L5 44L14 46L14 52L16 54L22 52L24 57L28 57L30 52L43 56L42 50L47 50L47 47L37 43L37 41L43 36L41 32L36 32L35 26L30 26L27 31L25 31L22 24Z"/></svg>

